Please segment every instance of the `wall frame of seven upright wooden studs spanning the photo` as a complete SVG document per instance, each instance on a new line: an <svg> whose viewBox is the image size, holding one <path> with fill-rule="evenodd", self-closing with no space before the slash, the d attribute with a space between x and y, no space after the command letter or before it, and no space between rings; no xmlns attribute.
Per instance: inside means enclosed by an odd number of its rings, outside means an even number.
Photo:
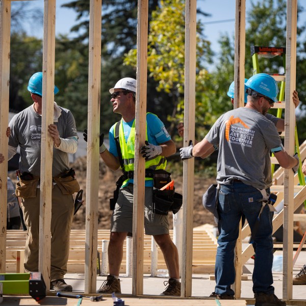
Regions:
<svg viewBox="0 0 306 306"><path fill-rule="evenodd" d="M14 0L11 0L14 1ZM9 74L10 74L10 21L11 1L0 1L0 133L5 135L8 126L9 109ZM15 0L18 1L18 0ZM96 249L97 249L97 208L98 197L98 141L100 114L100 63L101 63L101 0L90 0L90 37L89 37L89 86L88 86L88 160L87 160L87 193L86 198L86 268L85 293L95 292L96 287ZM49 289L50 265L50 211L52 181L52 139L47 135L47 126L53 122L54 73L55 73L55 5L56 0L44 0L44 36L43 36L43 120L42 120L42 151L41 151L41 222L39 269L41 270L47 289ZM195 49L196 49L196 0L186 0L186 49L185 49L185 119L186 127L184 146L189 139L194 141L195 114ZM137 95L136 95L136 154L137 168L134 185L135 202L144 200L144 160L139 158L139 147L144 144L146 116L146 59L147 59L147 21L148 0L138 2L137 29ZM296 28L297 0L287 1L287 55L286 55L286 101L291 102L291 93L295 89L296 73ZM245 0L236 0L235 23L235 107L243 106L244 96L244 58L245 58ZM286 104L285 115L285 149L294 154L294 123L295 112L292 103ZM4 137L0 138L0 152L5 162L0 165L0 272L5 272L6 262L6 202L7 202L7 150L8 144ZM191 296L192 288L192 203L193 203L193 172L194 161L183 162L183 248L182 248L182 297ZM296 206L306 198L305 187L293 196L293 172L285 170L284 174L284 282L283 298L292 299L292 249L293 212ZM292 203L294 205L292 205ZM143 294L143 205L134 206L133 220L133 295ZM280 223L282 215L274 219ZM275 221L275 222L276 222ZM242 237L243 231L242 231ZM240 236L241 237L241 236ZM249 250L241 252L241 240L237 244L237 278L236 295L240 297L241 267L249 257Z"/></svg>

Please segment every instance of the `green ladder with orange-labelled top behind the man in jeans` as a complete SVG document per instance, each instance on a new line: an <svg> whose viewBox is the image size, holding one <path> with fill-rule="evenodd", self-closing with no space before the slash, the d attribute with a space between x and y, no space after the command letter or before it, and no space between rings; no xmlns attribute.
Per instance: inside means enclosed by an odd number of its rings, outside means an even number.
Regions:
<svg viewBox="0 0 306 306"><path fill-rule="evenodd" d="M281 56L283 58L283 66L284 66L284 70L286 67L286 47L263 47L263 46L251 46L251 56L252 56L252 61L253 61L253 74L257 74L260 73L260 69L259 69L259 62L258 62L258 58L259 57L263 57L263 58L273 58L276 56ZM275 81L281 81L281 88L279 90L279 95L278 95L278 101L283 101L284 97L285 97L285 73L284 74L271 74L271 77L274 78ZM278 108L277 109L277 114L276 117L277 118L281 118L282 117L282 112L283 109L282 108ZM296 129L296 124L295 124L295 132L294 132L294 138L295 138L295 151L298 154L299 160L300 160L300 149L299 149L299 143L298 143L298 137L297 137L297 129ZM272 155L273 156L273 155ZM274 168L275 168L275 164L271 165L271 170L272 170L272 177L274 174ZM302 165L301 163L299 164L299 168L298 168L298 179L299 179L299 184L301 186L305 185L305 179L302 173ZM306 201L304 201L304 206L306 208Z"/></svg>

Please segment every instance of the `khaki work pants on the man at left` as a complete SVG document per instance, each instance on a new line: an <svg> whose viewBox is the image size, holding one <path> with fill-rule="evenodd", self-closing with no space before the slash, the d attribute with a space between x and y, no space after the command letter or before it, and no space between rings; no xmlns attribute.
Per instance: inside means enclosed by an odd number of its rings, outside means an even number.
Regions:
<svg viewBox="0 0 306 306"><path fill-rule="evenodd" d="M40 189L35 198L22 198L24 224L27 226L24 269L38 271ZM50 280L63 278L67 272L69 236L74 212L72 194L62 194L57 185L52 189L51 269Z"/></svg>

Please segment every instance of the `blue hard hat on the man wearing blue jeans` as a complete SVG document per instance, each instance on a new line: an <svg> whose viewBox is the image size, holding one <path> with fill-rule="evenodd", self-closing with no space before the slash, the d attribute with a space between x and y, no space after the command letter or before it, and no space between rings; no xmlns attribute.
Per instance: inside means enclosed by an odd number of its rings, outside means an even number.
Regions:
<svg viewBox="0 0 306 306"><path fill-rule="evenodd" d="M251 89L248 91L249 95L256 95L259 93L274 102L278 102L278 86L276 81L267 73L258 73L253 75L245 85Z"/></svg>

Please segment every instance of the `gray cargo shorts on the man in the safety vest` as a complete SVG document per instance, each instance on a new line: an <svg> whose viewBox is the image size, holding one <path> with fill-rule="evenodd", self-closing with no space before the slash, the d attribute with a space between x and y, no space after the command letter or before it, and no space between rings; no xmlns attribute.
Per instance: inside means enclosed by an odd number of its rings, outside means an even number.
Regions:
<svg viewBox="0 0 306 306"><path fill-rule="evenodd" d="M133 233L133 190L129 184L119 190L119 196L111 217L111 232ZM153 187L145 187L144 228L146 235L169 234L168 216L152 210Z"/></svg>

